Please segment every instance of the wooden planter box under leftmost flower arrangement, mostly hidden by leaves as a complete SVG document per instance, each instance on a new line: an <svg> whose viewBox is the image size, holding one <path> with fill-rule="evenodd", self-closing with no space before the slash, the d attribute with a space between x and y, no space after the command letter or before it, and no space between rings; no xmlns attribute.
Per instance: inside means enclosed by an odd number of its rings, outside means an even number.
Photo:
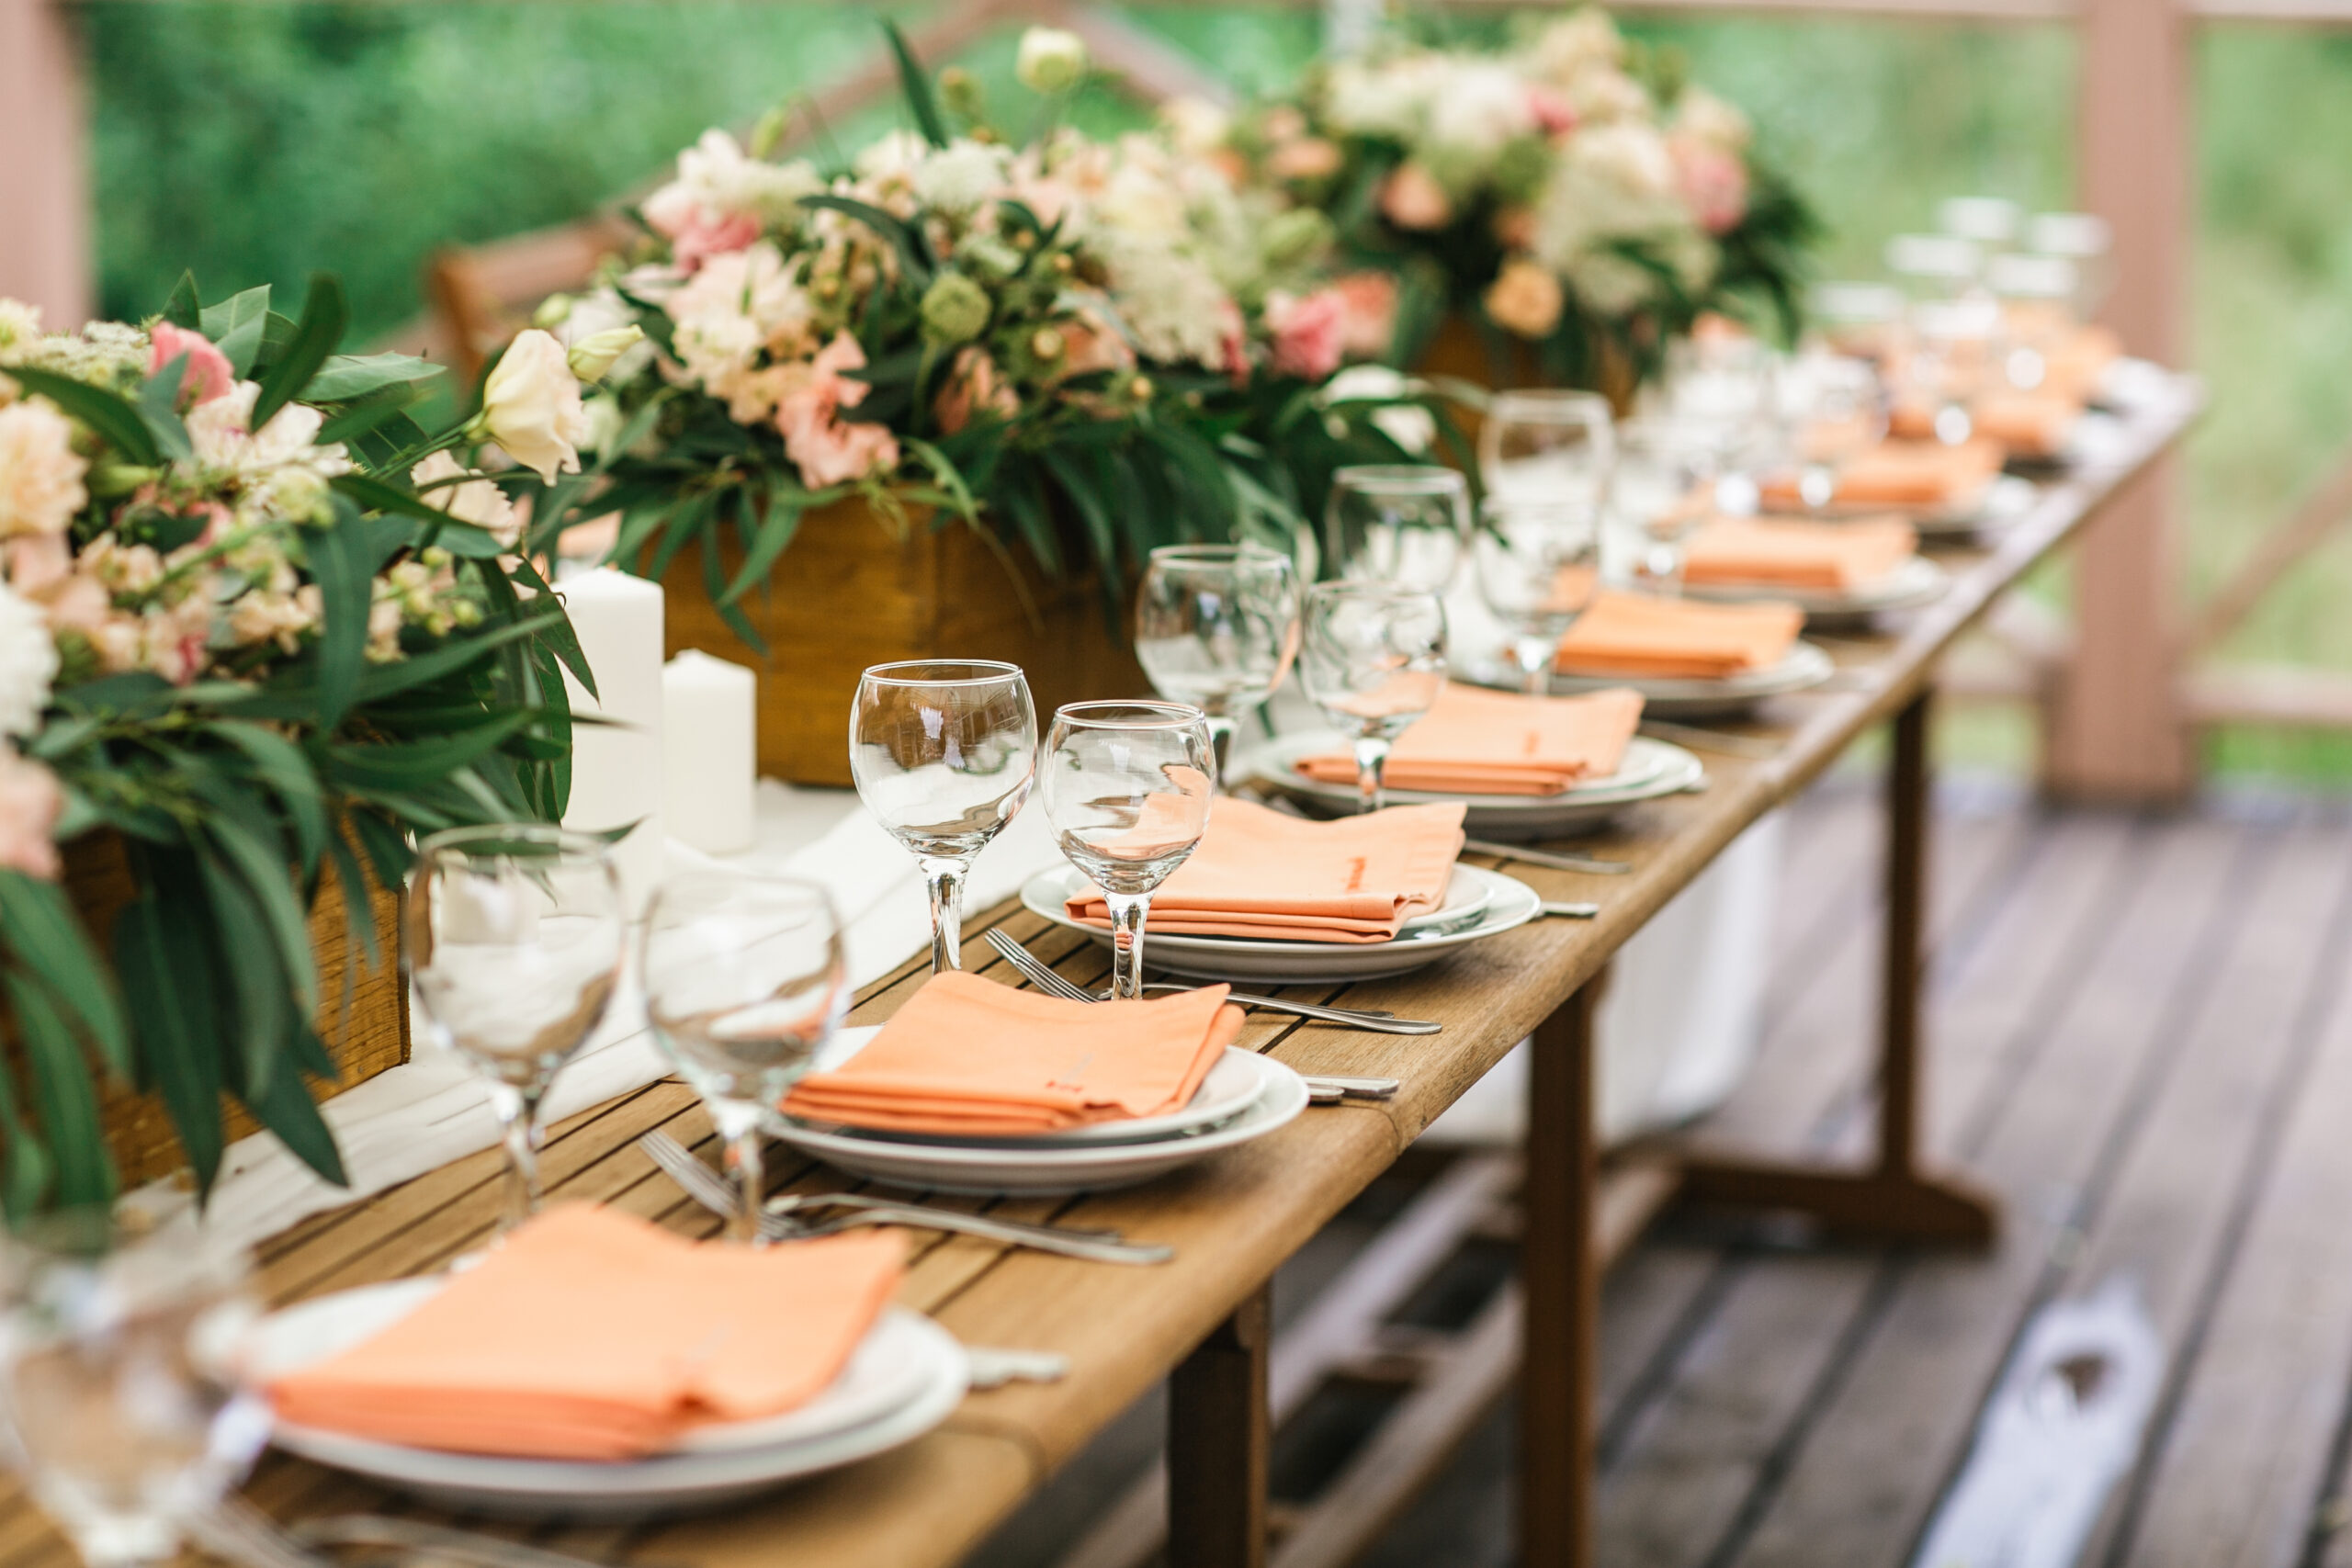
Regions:
<svg viewBox="0 0 2352 1568"><path fill-rule="evenodd" d="M82 917L82 929L101 950L108 950L115 914L134 893L122 839L113 832L92 832L68 844L64 882ZM327 877L320 884L318 905L310 910L310 950L318 954L320 992L318 1034L341 1072L334 1088L350 1088L409 1060L409 987L400 978L397 961L400 898L374 889L369 905L376 917L376 952L383 959L374 969L367 966L365 952L350 950L341 879ZM343 976L353 964L360 971L353 978L350 1009L346 1011ZM259 1131L242 1107L226 1098L223 1107L228 1110L226 1133L230 1140ZM188 1164L160 1098L134 1093L108 1079L99 1086L99 1114L106 1126L106 1147L115 1157L125 1190Z"/></svg>

